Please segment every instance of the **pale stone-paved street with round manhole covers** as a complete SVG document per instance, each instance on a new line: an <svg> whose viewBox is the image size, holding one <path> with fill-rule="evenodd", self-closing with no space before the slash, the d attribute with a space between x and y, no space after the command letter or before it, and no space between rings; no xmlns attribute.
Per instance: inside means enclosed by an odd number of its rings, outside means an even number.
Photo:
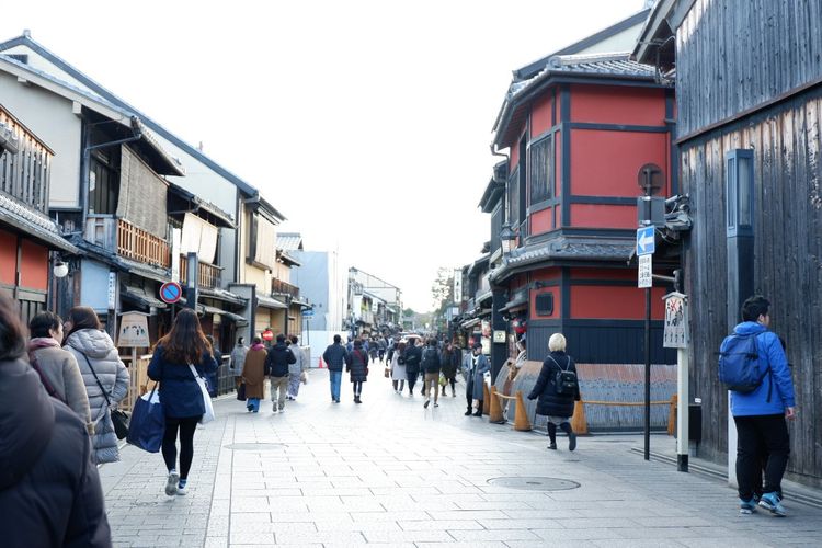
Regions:
<svg viewBox="0 0 822 548"><path fill-rule="evenodd" d="M326 370L284 414L216 401L186 496L165 496L159 454L125 447L101 468L115 546L822 545L822 510L788 500L787 518L740 516L723 482L631 453L638 436L582 437L574 453L560 437L548 452L536 433L464 416L461 386L425 410L372 372L361 406L345 376L342 403L331 403ZM552 491L491 482L509 477L567 481Z"/></svg>

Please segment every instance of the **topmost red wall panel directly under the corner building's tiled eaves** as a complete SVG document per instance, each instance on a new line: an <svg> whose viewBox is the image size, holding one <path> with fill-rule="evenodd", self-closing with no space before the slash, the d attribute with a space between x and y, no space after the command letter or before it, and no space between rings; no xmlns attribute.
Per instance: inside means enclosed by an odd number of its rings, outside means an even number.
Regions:
<svg viewBox="0 0 822 548"><path fill-rule="evenodd" d="M606 85L571 85L571 122L663 126L665 92Z"/></svg>

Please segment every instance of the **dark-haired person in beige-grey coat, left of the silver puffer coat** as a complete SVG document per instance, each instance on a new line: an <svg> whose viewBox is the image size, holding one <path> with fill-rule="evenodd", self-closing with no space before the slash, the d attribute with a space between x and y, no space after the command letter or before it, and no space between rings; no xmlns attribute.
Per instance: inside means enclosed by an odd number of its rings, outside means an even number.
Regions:
<svg viewBox="0 0 822 548"><path fill-rule="evenodd" d="M94 434L89 395L75 355L60 347L62 320L54 312L38 312L28 322L28 362L39 375L49 396L66 403L77 413L89 435Z"/></svg>

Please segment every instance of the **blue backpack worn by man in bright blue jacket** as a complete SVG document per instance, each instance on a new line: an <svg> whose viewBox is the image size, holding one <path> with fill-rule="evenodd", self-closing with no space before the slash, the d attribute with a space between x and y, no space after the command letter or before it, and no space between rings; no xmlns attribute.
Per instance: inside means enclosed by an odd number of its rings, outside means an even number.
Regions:
<svg viewBox="0 0 822 548"><path fill-rule="evenodd" d="M760 362L756 336L762 333L747 335L730 334L724 338L719 347L719 381L728 390L751 393L756 390L765 376L770 373L770 365ZM770 401L770 387L768 398Z"/></svg>

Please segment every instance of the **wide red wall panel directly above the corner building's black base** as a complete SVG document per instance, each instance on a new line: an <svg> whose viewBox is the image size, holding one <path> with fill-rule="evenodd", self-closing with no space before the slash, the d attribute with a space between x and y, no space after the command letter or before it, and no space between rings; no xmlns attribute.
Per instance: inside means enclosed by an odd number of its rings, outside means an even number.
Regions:
<svg viewBox="0 0 822 548"><path fill-rule="evenodd" d="M665 318L663 287L651 292L651 318ZM571 286L571 318L643 320L646 317L646 293L627 286Z"/></svg>

